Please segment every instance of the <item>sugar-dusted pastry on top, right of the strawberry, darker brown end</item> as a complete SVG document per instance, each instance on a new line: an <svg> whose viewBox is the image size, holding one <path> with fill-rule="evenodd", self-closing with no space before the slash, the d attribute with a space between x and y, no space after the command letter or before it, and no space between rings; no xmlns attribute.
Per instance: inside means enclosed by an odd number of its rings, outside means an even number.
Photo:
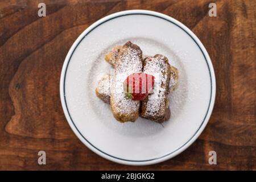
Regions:
<svg viewBox="0 0 256 182"><path fill-rule="evenodd" d="M168 101L168 83L171 76L171 68L167 57L155 55L143 60L143 73L155 76L154 91L141 103L141 117L151 119L156 122L168 120L167 113ZM169 113L170 117L170 113Z"/></svg>

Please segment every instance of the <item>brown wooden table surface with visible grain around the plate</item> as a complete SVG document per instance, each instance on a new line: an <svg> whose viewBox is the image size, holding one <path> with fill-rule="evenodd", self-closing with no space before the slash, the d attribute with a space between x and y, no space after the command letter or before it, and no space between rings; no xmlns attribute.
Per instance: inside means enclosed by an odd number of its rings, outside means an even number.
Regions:
<svg viewBox="0 0 256 182"><path fill-rule="evenodd" d="M38 16L45 2L47 15ZM210 2L217 17L208 15ZM59 96L60 72L73 42L96 20L129 9L154 10L189 27L216 74L212 117L199 139L152 166L116 164L89 150L69 127ZM0 0L0 169L256 170L256 1ZM38 164L44 150L47 164ZM209 165L208 152L217 152Z"/></svg>

